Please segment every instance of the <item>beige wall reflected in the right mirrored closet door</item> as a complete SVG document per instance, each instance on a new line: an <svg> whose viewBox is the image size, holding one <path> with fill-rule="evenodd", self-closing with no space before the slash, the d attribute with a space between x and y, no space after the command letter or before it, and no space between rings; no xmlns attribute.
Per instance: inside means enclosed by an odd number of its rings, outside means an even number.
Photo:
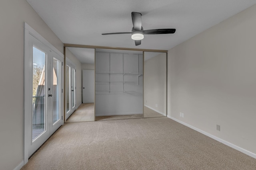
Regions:
<svg viewBox="0 0 256 170"><path fill-rule="evenodd" d="M166 114L166 53L144 62L144 105Z"/></svg>

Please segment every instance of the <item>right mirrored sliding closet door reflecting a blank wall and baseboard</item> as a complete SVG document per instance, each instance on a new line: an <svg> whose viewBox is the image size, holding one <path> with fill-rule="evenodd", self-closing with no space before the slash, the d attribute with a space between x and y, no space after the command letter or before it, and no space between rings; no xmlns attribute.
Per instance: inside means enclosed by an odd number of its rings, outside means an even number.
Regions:
<svg viewBox="0 0 256 170"><path fill-rule="evenodd" d="M167 114L166 53L144 52L144 117Z"/></svg>

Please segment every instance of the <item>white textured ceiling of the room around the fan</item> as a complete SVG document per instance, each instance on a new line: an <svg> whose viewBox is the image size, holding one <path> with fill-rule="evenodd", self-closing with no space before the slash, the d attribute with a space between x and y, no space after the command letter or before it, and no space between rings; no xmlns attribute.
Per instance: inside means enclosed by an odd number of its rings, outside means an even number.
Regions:
<svg viewBox="0 0 256 170"><path fill-rule="evenodd" d="M27 0L63 43L168 50L256 4L256 0ZM142 14L144 29L176 33L145 35L135 46L131 12Z"/></svg>

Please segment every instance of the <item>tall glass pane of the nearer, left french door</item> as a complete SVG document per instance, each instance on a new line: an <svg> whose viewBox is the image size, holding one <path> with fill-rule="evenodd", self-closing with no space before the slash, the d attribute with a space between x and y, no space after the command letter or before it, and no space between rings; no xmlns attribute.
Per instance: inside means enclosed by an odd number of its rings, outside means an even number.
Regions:
<svg viewBox="0 0 256 170"><path fill-rule="evenodd" d="M33 47L32 141L46 130L45 61L46 53Z"/></svg>

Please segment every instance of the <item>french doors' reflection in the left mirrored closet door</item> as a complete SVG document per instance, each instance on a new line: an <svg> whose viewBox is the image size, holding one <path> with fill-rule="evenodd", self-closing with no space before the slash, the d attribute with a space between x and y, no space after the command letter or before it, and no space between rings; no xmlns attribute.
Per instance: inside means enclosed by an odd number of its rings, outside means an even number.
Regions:
<svg viewBox="0 0 256 170"><path fill-rule="evenodd" d="M76 66L66 59L66 120L76 110Z"/></svg>

